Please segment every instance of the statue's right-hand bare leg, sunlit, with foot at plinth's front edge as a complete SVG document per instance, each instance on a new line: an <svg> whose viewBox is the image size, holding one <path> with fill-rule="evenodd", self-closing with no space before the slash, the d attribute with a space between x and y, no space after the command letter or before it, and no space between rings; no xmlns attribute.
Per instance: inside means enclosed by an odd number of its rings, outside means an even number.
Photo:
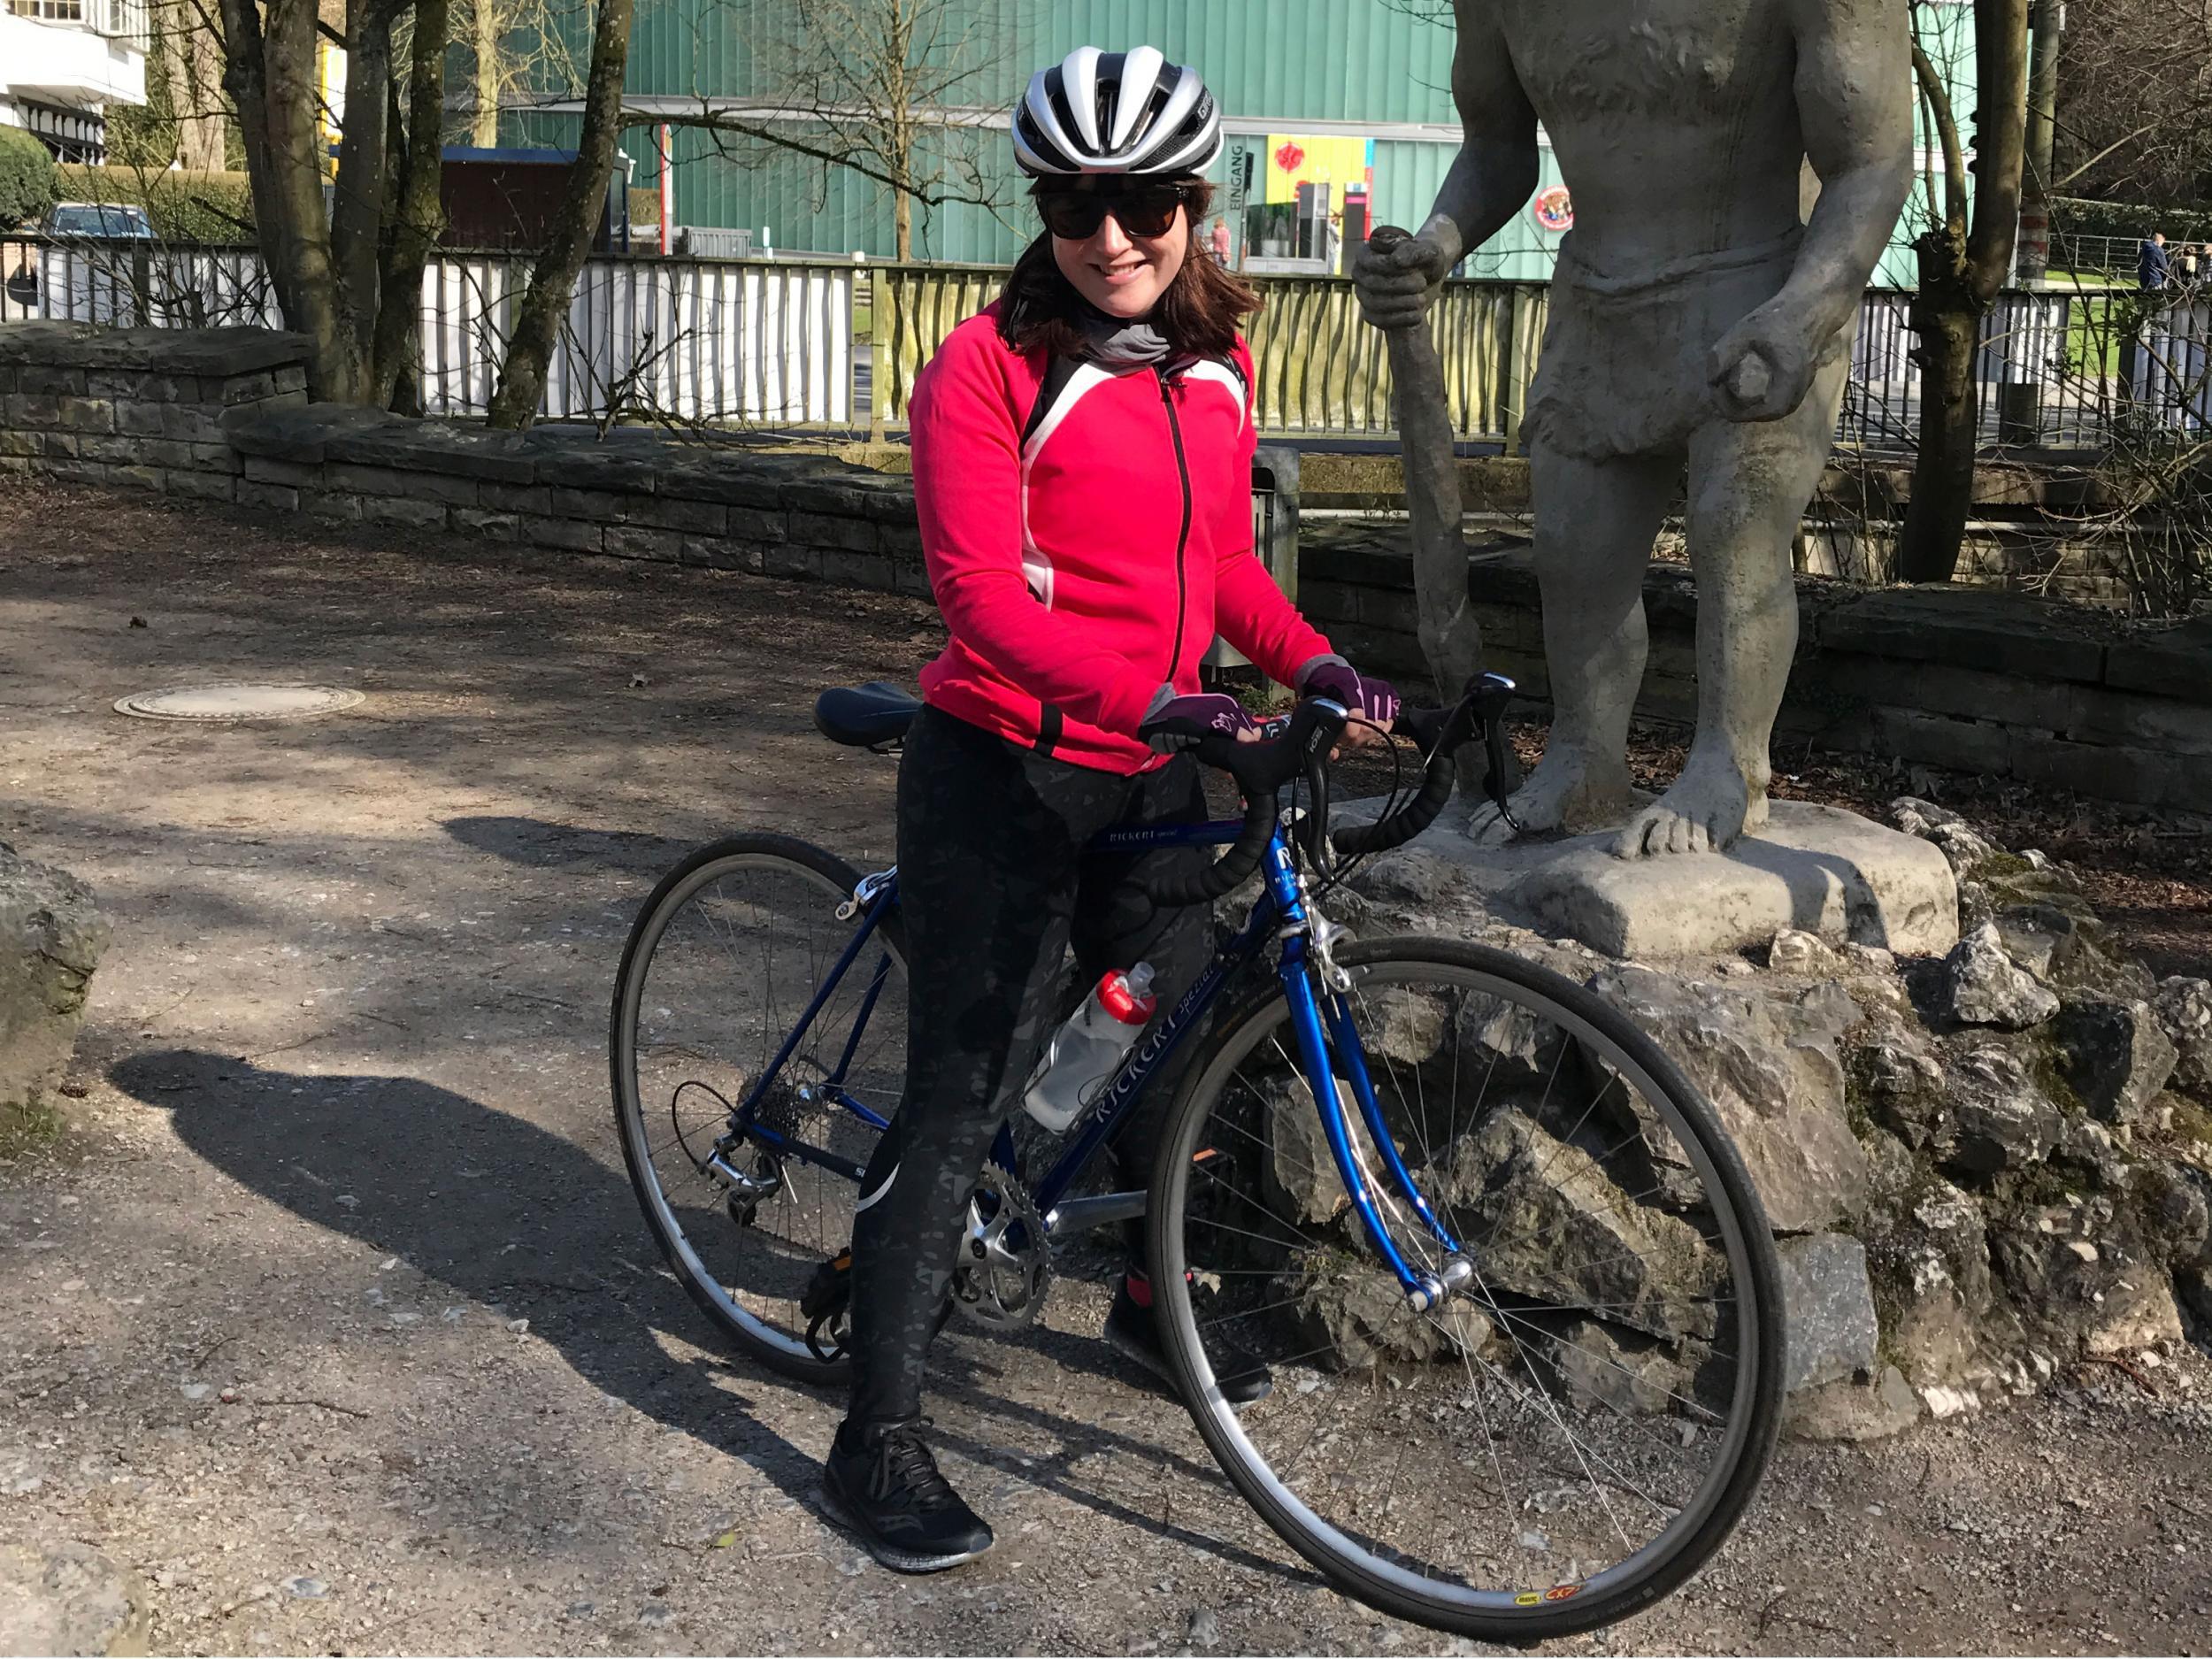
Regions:
<svg viewBox="0 0 2212 1659"><path fill-rule="evenodd" d="M1790 546L1827 465L1845 369L1823 367L1783 420L1717 420L1690 438L1697 737L1674 787L1621 832L1621 858L1719 852L1767 821L1767 745L1798 639Z"/></svg>

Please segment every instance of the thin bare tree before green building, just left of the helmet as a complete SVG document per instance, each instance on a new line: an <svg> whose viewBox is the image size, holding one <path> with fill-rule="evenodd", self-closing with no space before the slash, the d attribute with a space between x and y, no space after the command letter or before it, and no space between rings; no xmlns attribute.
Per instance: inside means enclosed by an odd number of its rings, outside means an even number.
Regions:
<svg viewBox="0 0 2212 1659"><path fill-rule="evenodd" d="M737 13L737 15L732 15ZM978 119L1004 38L973 0L807 0L701 13L701 33L745 27L754 64L776 64L765 93L697 108L633 113L714 133L726 148L779 148L845 168L891 195L900 259L914 259L914 208L969 201L998 210L1006 186L984 166L998 135Z"/></svg>

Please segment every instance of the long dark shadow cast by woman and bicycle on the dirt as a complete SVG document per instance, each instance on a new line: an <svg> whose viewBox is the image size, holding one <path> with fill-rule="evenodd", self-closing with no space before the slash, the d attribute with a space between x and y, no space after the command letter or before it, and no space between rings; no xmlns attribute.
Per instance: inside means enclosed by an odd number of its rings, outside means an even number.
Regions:
<svg viewBox="0 0 2212 1659"><path fill-rule="evenodd" d="M314 1225L405 1256L462 1296L526 1312L531 1334L549 1340L586 1383L752 1464L794 1502L823 1513L816 1460L745 1409L752 1402L728 1387L732 1371L710 1360L672 1360L655 1340L668 1332L726 1347L672 1279L626 1267L653 1254L619 1170L535 1124L414 1077L285 1073L170 1048L117 1062L111 1082L170 1113L177 1137L234 1181ZM312 1159L314 1177L299 1168L301 1159ZM515 1243L524 1248L511 1250ZM1037 1340L1048 1363L1064 1369L1097 1374L1102 1360L1117 1365L1097 1340L1053 1334ZM1104 1455L1124 1467L1148 1464L1179 1486L1199 1482L1214 1502L1225 1493L1210 1464L1004 1398L993 1387L1004 1376L998 1356L1011 1358L998 1345L940 1343L931 1354L933 1385L982 1416L1051 1436L1060 1449L1024 1462L971 1436L940 1431L940 1444L1113 1522L1318 1584L1310 1573L1141 1513L1088 1484L1075 1467ZM737 1365L743 1378L745 1360ZM823 1405L827 1413L836 1400ZM1250 1526L1259 1531L1256 1520Z"/></svg>

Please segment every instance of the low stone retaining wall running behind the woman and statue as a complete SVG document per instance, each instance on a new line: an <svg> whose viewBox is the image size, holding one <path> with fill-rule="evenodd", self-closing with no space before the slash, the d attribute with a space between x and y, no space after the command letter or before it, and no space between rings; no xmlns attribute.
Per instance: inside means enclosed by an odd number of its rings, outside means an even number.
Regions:
<svg viewBox="0 0 2212 1659"><path fill-rule="evenodd" d="M305 400L299 336L0 330L0 476L150 489L425 533L480 535L927 595L911 480L639 429L493 434ZM1310 524L1301 604L1349 655L1422 672L1402 526ZM1469 586L1495 666L1548 695L1524 549ZM1641 712L1697 708L1697 588L1644 584ZM2017 595L1801 577L1783 737L2212 810L2212 619L2163 633Z"/></svg>

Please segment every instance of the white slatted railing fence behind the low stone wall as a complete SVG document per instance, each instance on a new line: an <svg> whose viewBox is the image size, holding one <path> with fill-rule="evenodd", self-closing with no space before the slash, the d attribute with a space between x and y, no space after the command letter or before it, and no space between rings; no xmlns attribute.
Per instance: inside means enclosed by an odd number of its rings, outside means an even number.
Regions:
<svg viewBox="0 0 2212 1659"><path fill-rule="evenodd" d="M960 303L909 305L914 316L891 330L889 380L880 345L885 276L894 288L898 276L945 285L938 268L874 272L878 345L867 349L854 343L860 272L849 263L593 257L549 365L542 414L841 431L898 425L905 418L898 387L911 387L911 369L993 292L1000 274L967 272ZM526 254L449 252L425 270L427 411L484 414L526 281ZM1349 292L1336 294L1325 283L1303 288L1316 294L1329 288L1321 299L1352 314ZM1533 285L1528 294L1540 299ZM1270 307L1287 307L1272 316L1274 334L1290 330L1287 341L1276 341L1283 347L1276 356L1287 352L1285 372L1301 378L1305 405L1321 411L1301 429L1387 436L1389 409L1367 409L1374 398L1356 385L1356 354L1323 352L1318 325L1298 327L1301 312L1285 294L1272 292ZM252 248L0 239L0 321L27 316L153 327L281 325ZM1265 325L1254 338L1261 334ZM1843 442L1878 451L1916 445L1922 405L1916 338L1911 294L1867 294L1838 422ZM1533 356L1515 352L1498 374L1524 385ZM1520 405L1513 385L1493 392L1495 400ZM2203 429L2212 425L2212 296L2139 294L2124 285L2006 292L1982 325L1975 396L1986 445L2084 449L2110 442L2121 429ZM1356 409L1367 409L1365 422L1352 418Z"/></svg>

